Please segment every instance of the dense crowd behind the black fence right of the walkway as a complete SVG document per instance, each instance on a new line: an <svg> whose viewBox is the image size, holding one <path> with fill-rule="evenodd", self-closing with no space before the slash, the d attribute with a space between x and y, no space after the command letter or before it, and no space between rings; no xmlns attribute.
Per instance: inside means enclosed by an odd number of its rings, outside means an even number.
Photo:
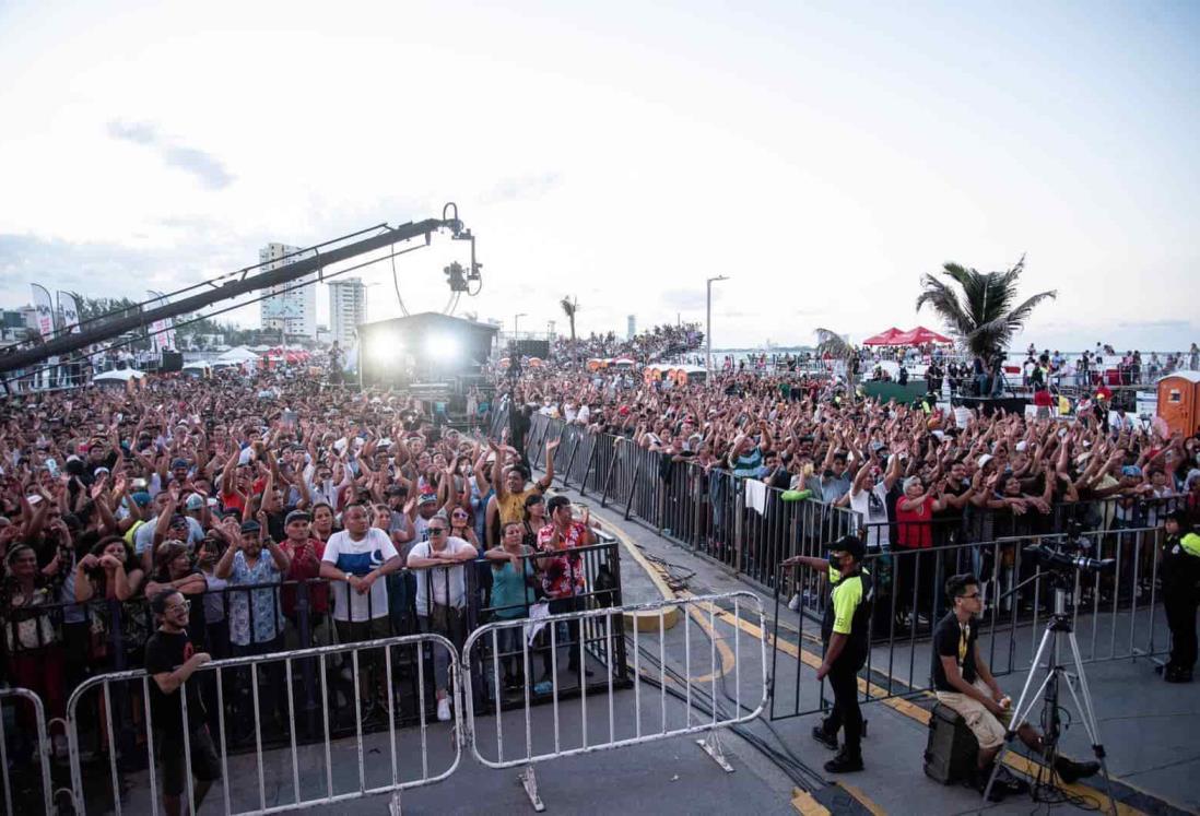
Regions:
<svg viewBox="0 0 1200 816"><path fill-rule="evenodd" d="M900 598L900 625L929 626L943 608L938 571L1013 566L1012 552L1001 553L1003 563L988 563L996 560L994 551L961 545L1062 533L1072 522L1100 533L1162 529L1169 517L1188 532L1200 522L1200 436L1136 424L1109 410L1104 394L1081 400L1068 419L1042 410L940 407L931 400L881 403L806 373L719 373L704 384L679 385L622 372L583 378L548 371L529 372L511 388L514 404L526 410L659 455L649 478L667 505L679 500L673 485L689 486L684 499L701 510L678 516L698 517L700 541L692 544L709 554L728 552L727 516L745 512L731 500L739 480L764 485L768 498L799 496L851 512L876 552L960 545L962 560L938 569L925 556L896 560L889 589ZM722 560L743 570L766 560L754 576L766 580L773 566L768 554L779 542L756 540L758 529L744 524L743 552ZM1127 536L1120 546L1128 550L1132 541ZM1153 589L1153 570L1146 569L1152 547L1136 557L1144 568L1136 586L1134 570L1123 581L1145 600ZM1030 569L1028 562L1021 569ZM913 594L931 599L928 604L908 600L914 582ZM1193 662L1184 650L1168 678L1189 678Z"/></svg>

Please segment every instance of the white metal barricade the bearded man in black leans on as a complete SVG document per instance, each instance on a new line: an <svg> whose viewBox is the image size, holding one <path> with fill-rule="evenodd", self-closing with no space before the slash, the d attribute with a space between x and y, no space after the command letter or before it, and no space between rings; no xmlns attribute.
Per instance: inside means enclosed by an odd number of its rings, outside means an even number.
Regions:
<svg viewBox="0 0 1200 816"><path fill-rule="evenodd" d="M462 722L461 696L457 694L460 662L454 644L437 634L233 658L208 664L176 692L180 695L182 720L181 744L162 744L169 737L162 727L154 722L151 684L155 680L146 672L118 672L90 678L74 690L67 703L67 737L71 745L70 793L74 802L76 812L82 815L91 808L94 810L110 810L118 815L125 810L158 814L161 770L155 757L161 756L162 751L182 751L186 779L184 794L188 803L194 803L196 788L199 782L193 778L191 768L196 751L203 750L200 745L196 744L196 739L204 730L209 730L220 762L221 779L226 780L223 784L217 782L221 791L210 796L220 796L221 808L226 814L284 812L360 799L379 793L392 793L396 797L400 791L446 779L458 767L462 751L457 739L432 738L431 730L439 726L430 722L436 697L428 683L431 670L426 667L426 660L421 658L425 649L443 649L449 660L452 678L450 694L454 695L452 722L446 726L449 736L451 728L457 730ZM401 670L397 668L397 664L401 661L396 659L396 655L402 658L406 652L413 654L413 660L408 665L412 666L416 677L414 698L395 694L397 676L401 673ZM354 691L359 688L360 672L364 671L361 664L380 658L384 664L388 694L382 701L382 707L367 710L367 701L364 701ZM296 674L298 666L304 662L314 662L318 667L322 727L316 736L302 734L301 728L298 727L296 707L300 701ZM272 689L272 691L282 692L287 719L278 731L268 734L262 714L263 708L271 701L263 700L264 691L259 688L258 674L263 671L264 665L271 664L282 664L284 683L282 688ZM340 671L336 671L335 664L341 665ZM227 674L246 672L247 670L251 678L252 712L227 708ZM347 673L349 679L346 678ZM211 683L216 691L216 710L209 713L215 720L215 727L208 722L190 727L187 686L202 685L200 698L203 700L203 686L208 683ZM353 698L352 708L347 708L344 703L337 703L335 700L338 695L344 694L340 686L346 684L349 684L350 694L347 697ZM108 752L108 774L106 784L98 786L100 790L96 785L85 785L79 760L80 704L89 695L98 695L103 701L104 736L109 745L114 744L115 739L113 706L118 696L126 696L131 700L137 712L139 736L144 738L138 740L137 756L122 755L120 757L124 769L119 767L118 752L112 750ZM250 724L251 732L248 734L241 732L241 742L244 745L248 745L248 752L235 754L232 750L234 748L232 743L239 730L246 726L244 720L247 714L253 718ZM230 720L230 718L234 719ZM350 737L340 739L335 736L337 731L335 720L338 718L353 720ZM397 727L409 719L415 720L413 728ZM251 738L252 744L248 743ZM372 766L368 769L365 758L372 752L379 752L382 756L378 766ZM412 760L407 766L410 773L402 770L404 758ZM440 764L434 764L439 761ZM146 768L146 784L133 785L128 791L122 792L121 778L128 778L132 774L140 775L140 772L131 772L130 767L143 763ZM335 773L338 769L353 769L356 773L353 775L354 778L347 779L347 775ZM368 770L373 773L368 773ZM335 779L335 776L340 779ZM235 779L252 779L254 785L252 788L250 786L238 787L234 785ZM337 781L342 784L338 785ZM268 791L272 792L271 798L268 797ZM194 808L188 805L185 808L187 812L194 812Z"/></svg>

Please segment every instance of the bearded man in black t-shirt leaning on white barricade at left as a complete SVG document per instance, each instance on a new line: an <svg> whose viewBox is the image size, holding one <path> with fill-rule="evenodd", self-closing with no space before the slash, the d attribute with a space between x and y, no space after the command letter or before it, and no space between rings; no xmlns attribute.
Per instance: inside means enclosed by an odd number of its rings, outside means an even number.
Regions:
<svg viewBox="0 0 1200 816"><path fill-rule="evenodd" d="M184 776L187 772L184 764L185 739L197 780L197 809L212 782L221 779L221 761L205 722L199 686L194 682L187 683L197 668L212 659L206 652L197 652L187 637L190 606L191 602L178 589L164 589L150 601L150 608L158 618L158 630L146 641L145 666L146 673L154 678L150 685L150 721L162 762L162 806L168 816L180 814L180 797L187 787ZM187 695L186 737L180 688Z"/></svg>

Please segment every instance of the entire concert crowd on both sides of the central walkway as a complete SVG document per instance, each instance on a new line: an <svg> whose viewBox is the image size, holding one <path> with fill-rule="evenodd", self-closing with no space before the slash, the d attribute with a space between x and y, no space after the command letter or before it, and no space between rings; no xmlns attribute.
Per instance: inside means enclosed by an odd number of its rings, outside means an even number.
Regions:
<svg viewBox="0 0 1200 816"><path fill-rule="evenodd" d="M695 326L640 337L584 353L649 358L700 342ZM1200 436L1126 421L1103 395L1068 422L932 400L883 403L794 368L730 370L698 383L580 371L526 368L474 402L611 434L656 455L659 479L685 469L710 503L714 539L725 535L714 523L722 491L746 480L854 514L868 552L991 541L1001 526L1056 532L1075 520L1088 529L1166 527L1174 539L1163 540L1182 546L1178 569L1200 563L1180 544L1193 541L1200 521ZM508 442L446 430L408 396L286 371L10 398L0 414L4 678L61 716L88 677L144 666L157 716L174 710L172 695L210 658L419 631L461 643L482 618L521 617L539 601L578 610L596 587L571 551L594 536L570 502L544 497L558 442L545 443L546 473L533 484L523 440ZM1190 679L1195 662L1196 583L1184 584L1192 636L1176 638L1172 680ZM1183 607L1170 616L1181 634ZM928 625L922 618L934 611L907 610L910 625ZM576 626L558 643L582 683L587 667L570 649L580 636ZM516 644L503 648L504 685L532 684L512 659ZM545 678L553 661L544 662ZM378 659L334 671L335 695L356 695L368 716L390 710ZM434 654L431 671L431 703L449 719L446 655ZM276 668L259 679L281 686ZM233 683L234 740L283 727L284 696L269 695L256 725L248 673ZM211 684L186 685L196 686L196 710L208 710L199 732L212 721ZM192 772L203 779L198 739ZM170 787L180 773L167 774ZM168 793L178 799L179 790Z"/></svg>

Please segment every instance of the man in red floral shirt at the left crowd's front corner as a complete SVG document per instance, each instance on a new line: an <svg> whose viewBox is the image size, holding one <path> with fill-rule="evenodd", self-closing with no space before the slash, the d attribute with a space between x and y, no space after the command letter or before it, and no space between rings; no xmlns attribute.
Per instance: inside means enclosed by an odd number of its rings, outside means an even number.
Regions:
<svg viewBox="0 0 1200 816"><path fill-rule="evenodd" d="M571 500L565 496L554 496L546 503L550 523L538 532L538 569L541 571L541 588L550 600L550 613L562 614L586 608L582 595L587 593L587 581L583 575L583 559L578 553L570 552L577 547L587 547L594 542L589 516L584 510L583 521L575 521L571 514ZM547 636L548 637L548 636ZM568 647L568 670L580 673L580 622L568 623L568 637L557 641L557 646ZM544 679L550 679L551 653L547 649L542 658ZM588 676L592 670L584 668Z"/></svg>

